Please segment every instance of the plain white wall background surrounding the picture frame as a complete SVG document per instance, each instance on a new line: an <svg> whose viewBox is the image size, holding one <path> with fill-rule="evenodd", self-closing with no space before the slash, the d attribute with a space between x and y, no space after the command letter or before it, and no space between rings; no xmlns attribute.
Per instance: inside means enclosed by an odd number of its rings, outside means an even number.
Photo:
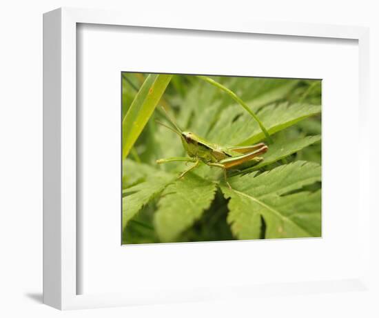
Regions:
<svg viewBox="0 0 379 318"><path fill-rule="evenodd" d="M300 21L371 28L371 134L379 97L379 10L376 1L13 0L0 9L0 316L1 317L379 317L366 292L262 297L231 303L59 312L42 299L42 13L61 6L228 19ZM280 54L280 52L278 52ZM343 120L343 116L341 117ZM338 127L338 123L337 123ZM377 146L375 146L375 150ZM366 151L366 150L361 150ZM372 157L378 177L378 152ZM373 195L377 195L373 193ZM378 203L373 202L376 211ZM373 239L379 218L371 218ZM378 246L378 244L376 245ZM378 252L378 251L376 251ZM378 265L378 255L373 255ZM280 264L278 264L280 266ZM378 266L379 268L379 266ZM378 275L376 275L378 278ZM378 282L378 280L377 280ZM378 285L377 285L378 286ZM322 304L322 306L320 306ZM375 308L375 309L374 309Z"/></svg>

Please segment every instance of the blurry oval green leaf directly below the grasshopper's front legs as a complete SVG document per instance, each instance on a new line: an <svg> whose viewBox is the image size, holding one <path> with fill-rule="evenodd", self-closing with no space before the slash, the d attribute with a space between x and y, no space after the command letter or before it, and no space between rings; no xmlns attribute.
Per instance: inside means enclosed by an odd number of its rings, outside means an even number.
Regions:
<svg viewBox="0 0 379 318"><path fill-rule="evenodd" d="M214 199L216 184L188 173L162 193L155 213L155 227L161 241L175 241L192 226Z"/></svg>

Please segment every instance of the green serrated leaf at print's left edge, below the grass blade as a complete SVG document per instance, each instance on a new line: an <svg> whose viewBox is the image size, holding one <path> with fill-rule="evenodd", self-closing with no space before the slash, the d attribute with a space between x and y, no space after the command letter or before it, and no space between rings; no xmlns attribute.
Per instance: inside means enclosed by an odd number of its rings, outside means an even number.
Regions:
<svg viewBox="0 0 379 318"><path fill-rule="evenodd" d="M155 170L150 167L146 167L141 163L133 163L134 168L141 170L148 170L147 173L141 174L145 178L145 181L137 183L135 186L125 188L123 190L123 228L127 223L136 216L136 214L153 199L158 193L160 193L170 182L172 182L176 176L163 172L161 170ZM128 171L125 170L124 175L127 175ZM138 177L137 177L138 178ZM134 177L136 179L136 177Z"/></svg>

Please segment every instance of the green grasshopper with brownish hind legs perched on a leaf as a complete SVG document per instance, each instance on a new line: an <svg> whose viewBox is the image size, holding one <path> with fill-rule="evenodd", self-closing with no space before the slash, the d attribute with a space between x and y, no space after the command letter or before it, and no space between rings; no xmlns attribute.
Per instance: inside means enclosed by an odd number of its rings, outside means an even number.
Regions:
<svg viewBox="0 0 379 318"><path fill-rule="evenodd" d="M183 147L189 157L158 159L156 163L167 163L172 161L194 162L194 165L183 171L181 175L179 175L178 179L183 178L187 172L196 168L201 162L203 162L208 166L223 169L225 183L227 183L229 189L232 189L227 181L227 170L236 168L247 161L254 165L263 160L262 157L258 156L268 150L265 143L257 143L252 146L220 146L216 143L211 143L201 137L198 137L198 135L194 134L194 132L181 130L181 128L176 125L174 119L172 119L172 117L170 117L170 115L166 112L165 108L162 107L162 109L173 127L167 126L160 121L156 122L162 126L165 126L165 128L172 130L179 137L181 137L181 142L183 143Z"/></svg>

